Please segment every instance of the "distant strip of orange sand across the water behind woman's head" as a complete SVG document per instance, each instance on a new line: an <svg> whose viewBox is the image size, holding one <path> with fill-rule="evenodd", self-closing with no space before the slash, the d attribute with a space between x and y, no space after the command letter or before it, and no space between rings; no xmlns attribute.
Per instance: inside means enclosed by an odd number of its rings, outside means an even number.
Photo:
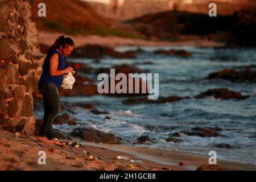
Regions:
<svg viewBox="0 0 256 182"><path fill-rule="evenodd" d="M64 33L39 31L39 43L46 46L51 46L58 36ZM218 43L209 40L187 40L178 42L163 42L163 41L148 41L142 39L129 39L117 36L99 36L99 35L68 35L73 39L76 47L86 44L98 44L101 46L117 47L117 46L149 46L149 47L164 47L164 46L195 46L195 47L224 47L225 43Z"/></svg>

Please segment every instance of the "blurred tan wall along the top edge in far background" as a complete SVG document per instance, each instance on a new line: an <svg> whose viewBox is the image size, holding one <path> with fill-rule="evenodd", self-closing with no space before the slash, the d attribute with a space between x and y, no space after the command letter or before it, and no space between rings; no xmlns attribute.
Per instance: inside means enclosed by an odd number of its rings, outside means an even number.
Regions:
<svg viewBox="0 0 256 182"><path fill-rule="evenodd" d="M126 20L171 10L208 14L208 5L211 2L217 4L218 15L231 15L242 9L243 5L255 0L124 0L122 5L118 6L114 6L113 3L89 3L102 16Z"/></svg>

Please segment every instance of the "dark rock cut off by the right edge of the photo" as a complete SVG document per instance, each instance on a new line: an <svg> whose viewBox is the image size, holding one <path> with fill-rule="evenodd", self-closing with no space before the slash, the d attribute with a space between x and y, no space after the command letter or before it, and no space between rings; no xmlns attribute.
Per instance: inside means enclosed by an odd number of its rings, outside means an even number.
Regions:
<svg viewBox="0 0 256 182"><path fill-rule="evenodd" d="M219 72L210 73L207 77L208 79L221 78L229 81L250 81L256 82L256 71L251 70L250 68L245 69L244 71L236 71L236 69L224 69Z"/></svg>

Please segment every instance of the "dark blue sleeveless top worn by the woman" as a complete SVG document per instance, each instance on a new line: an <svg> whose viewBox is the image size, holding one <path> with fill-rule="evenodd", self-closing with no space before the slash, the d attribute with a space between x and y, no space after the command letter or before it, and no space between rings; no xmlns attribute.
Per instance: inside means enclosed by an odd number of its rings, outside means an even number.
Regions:
<svg viewBox="0 0 256 182"><path fill-rule="evenodd" d="M51 59L51 56L55 53L57 53L59 56L59 64L57 69L62 70L67 67L67 59L63 55L61 55L61 53L57 51L57 49L52 49L51 51L48 52L46 59L44 60L43 71L42 71L41 77L39 78L39 82L55 84L58 88L60 88L63 80L63 75L60 75L60 76L49 75L49 60Z"/></svg>

